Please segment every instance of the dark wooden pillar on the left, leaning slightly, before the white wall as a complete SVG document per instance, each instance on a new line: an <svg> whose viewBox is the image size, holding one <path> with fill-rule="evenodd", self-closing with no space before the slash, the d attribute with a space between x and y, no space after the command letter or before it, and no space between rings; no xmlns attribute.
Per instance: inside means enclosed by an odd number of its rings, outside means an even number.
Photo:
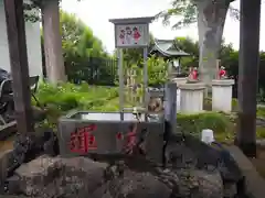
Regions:
<svg viewBox="0 0 265 198"><path fill-rule="evenodd" d="M4 0L13 98L19 133L33 132L23 0Z"/></svg>

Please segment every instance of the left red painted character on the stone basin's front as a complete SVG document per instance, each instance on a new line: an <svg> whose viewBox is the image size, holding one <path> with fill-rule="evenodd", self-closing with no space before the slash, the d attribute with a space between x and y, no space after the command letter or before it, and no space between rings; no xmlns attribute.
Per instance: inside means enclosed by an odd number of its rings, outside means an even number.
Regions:
<svg viewBox="0 0 265 198"><path fill-rule="evenodd" d="M95 124L77 129L71 133L70 150L73 153L86 154L89 150L96 150L96 138L92 134L96 130Z"/></svg>

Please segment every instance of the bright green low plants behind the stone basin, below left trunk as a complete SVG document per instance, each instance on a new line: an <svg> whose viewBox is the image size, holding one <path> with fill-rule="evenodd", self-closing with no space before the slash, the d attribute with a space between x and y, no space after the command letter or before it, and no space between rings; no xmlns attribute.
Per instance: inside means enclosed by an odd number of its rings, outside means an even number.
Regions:
<svg viewBox="0 0 265 198"><path fill-rule="evenodd" d="M47 119L42 124L54 128L59 117L70 110L104 109L109 100L118 97L118 91L116 87L88 86L86 82L80 86L70 82L57 86L42 82L35 96L42 106L46 106Z"/></svg>

